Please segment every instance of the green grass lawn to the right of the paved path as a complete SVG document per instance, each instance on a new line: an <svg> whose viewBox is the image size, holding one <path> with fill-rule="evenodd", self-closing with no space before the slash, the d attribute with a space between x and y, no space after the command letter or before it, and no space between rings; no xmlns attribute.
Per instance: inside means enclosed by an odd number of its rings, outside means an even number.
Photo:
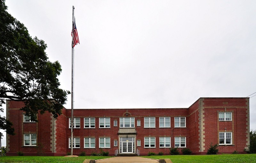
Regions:
<svg viewBox="0 0 256 163"><path fill-rule="evenodd" d="M171 159L173 163L256 163L256 154L166 155L142 157Z"/></svg>

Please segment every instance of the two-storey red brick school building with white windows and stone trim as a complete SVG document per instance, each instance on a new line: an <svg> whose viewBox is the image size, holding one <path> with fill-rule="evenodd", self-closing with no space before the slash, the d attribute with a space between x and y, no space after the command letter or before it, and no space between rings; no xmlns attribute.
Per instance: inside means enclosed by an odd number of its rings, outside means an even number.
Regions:
<svg viewBox="0 0 256 163"><path fill-rule="evenodd" d="M14 136L7 135L6 155L70 152L70 109L63 108L56 120L47 112L31 122L22 106L6 102L6 117L15 129ZM74 109L73 154L166 155L170 147L205 154L211 143L218 144L219 153L243 153L250 143L249 118L248 97L199 98L188 108Z"/></svg>

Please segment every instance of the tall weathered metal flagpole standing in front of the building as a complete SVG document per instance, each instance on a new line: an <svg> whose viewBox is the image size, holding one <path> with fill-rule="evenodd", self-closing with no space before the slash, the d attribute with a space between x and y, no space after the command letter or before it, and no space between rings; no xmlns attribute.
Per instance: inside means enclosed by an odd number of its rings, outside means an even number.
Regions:
<svg viewBox="0 0 256 163"><path fill-rule="evenodd" d="M72 77L71 77L71 155L73 155L73 121L74 121L74 115L73 115L73 109L74 109L74 9L73 6L73 14L72 14Z"/></svg>

